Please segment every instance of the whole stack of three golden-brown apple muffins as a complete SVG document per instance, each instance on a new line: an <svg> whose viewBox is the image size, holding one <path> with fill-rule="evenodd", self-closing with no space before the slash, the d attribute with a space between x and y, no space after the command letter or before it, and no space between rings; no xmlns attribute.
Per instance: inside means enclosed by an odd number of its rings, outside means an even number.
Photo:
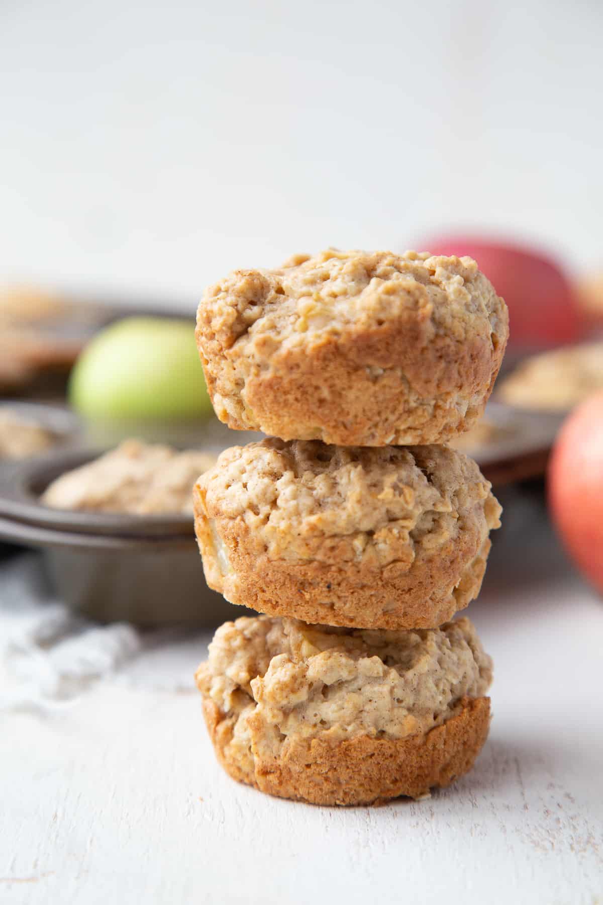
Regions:
<svg viewBox="0 0 603 905"><path fill-rule="evenodd" d="M206 291L216 414L269 438L195 487L208 584L263 613L197 672L222 766L319 805L421 797L472 767L492 662L466 618L501 512L445 445L482 414L508 315L476 262L297 256Z"/></svg>

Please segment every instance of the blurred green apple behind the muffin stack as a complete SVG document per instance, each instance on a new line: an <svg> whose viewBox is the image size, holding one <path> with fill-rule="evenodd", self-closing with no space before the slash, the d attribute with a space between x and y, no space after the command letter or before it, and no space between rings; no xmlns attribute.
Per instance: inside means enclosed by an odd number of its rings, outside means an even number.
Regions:
<svg viewBox="0 0 603 905"><path fill-rule="evenodd" d="M78 358L69 397L88 418L209 418L193 322L132 317L111 324Z"/></svg>

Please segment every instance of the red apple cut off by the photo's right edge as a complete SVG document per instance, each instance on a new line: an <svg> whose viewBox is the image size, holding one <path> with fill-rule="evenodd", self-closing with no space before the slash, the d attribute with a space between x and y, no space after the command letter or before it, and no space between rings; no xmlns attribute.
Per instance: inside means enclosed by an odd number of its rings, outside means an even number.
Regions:
<svg viewBox="0 0 603 905"><path fill-rule="evenodd" d="M561 427L548 485L565 547L603 593L603 393L589 396Z"/></svg>

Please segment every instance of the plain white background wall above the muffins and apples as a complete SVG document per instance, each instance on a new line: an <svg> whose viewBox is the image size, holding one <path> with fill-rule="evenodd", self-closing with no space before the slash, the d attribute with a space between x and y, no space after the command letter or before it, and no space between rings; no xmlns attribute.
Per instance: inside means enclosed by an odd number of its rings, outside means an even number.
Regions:
<svg viewBox="0 0 603 905"><path fill-rule="evenodd" d="M603 4L0 3L0 279L193 307L470 227L603 264Z"/></svg>

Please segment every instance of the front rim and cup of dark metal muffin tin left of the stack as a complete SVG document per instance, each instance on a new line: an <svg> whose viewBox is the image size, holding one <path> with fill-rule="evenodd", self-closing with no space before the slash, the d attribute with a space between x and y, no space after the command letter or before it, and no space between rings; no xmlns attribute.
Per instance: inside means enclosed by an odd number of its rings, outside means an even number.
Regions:
<svg viewBox="0 0 603 905"><path fill-rule="evenodd" d="M100 452L56 449L1 472L0 538L41 549L57 595L93 619L208 626L245 614L207 587L192 518L42 505L51 481Z"/></svg>

